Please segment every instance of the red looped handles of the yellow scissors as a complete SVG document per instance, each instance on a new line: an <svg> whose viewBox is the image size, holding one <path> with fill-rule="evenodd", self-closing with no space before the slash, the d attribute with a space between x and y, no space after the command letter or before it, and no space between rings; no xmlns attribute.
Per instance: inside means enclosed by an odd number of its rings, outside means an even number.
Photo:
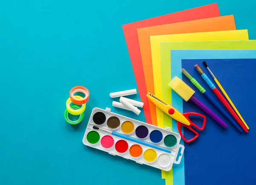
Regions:
<svg viewBox="0 0 256 185"><path fill-rule="evenodd" d="M189 116L190 116L190 115L200 116L200 117L204 118L204 122L203 122L202 127L198 127L196 124L194 124L194 123L189 119ZM205 117L204 115L202 115L202 114L199 114L199 113L184 113L183 116L186 117L186 119L189 121L190 125L188 126L188 125L182 124L182 123L180 123L179 121L177 121L177 129L178 129L178 132L180 133L181 138L184 140L184 142L189 143L189 142L192 142L192 141L194 141L195 139L197 139L198 136L199 136L198 132L196 132L194 129L192 129L191 126L197 128L197 129L200 130L200 131L204 130L205 123L206 123L206 117ZM190 131L192 131L192 133L195 133L195 137L193 137L192 139L187 140L187 139L183 136L183 133L181 132L180 127L186 127L187 129L189 129Z"/></svg>

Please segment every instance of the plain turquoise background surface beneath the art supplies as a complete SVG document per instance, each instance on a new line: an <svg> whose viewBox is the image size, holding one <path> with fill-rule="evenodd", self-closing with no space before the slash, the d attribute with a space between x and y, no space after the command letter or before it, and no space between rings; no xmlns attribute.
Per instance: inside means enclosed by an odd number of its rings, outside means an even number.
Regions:
<svg viewBox="0 0 256 185"><path fill-rule="evenodd" d="M216 2L256 39L253 0L1 1L0 184L164 184L159 170L85 147L82 138L91 110L112 107L109 93L136 88L121 25ZM71 126L63 114L76 85L90 100L82 123ZM143 113L112 110L145 121Z"/></svg>

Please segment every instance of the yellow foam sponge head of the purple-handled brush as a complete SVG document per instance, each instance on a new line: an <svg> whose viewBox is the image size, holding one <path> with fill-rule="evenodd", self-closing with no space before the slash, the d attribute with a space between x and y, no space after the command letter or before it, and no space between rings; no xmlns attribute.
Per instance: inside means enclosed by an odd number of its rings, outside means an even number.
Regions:
<svg viewBox="0 0 256 185"><path fill-rule="evenodd" d="M172 81L168 84L172 90L175 91L183 100L188 101L195 93L185 82L180 80L177 76L172 78Z"/></svg>

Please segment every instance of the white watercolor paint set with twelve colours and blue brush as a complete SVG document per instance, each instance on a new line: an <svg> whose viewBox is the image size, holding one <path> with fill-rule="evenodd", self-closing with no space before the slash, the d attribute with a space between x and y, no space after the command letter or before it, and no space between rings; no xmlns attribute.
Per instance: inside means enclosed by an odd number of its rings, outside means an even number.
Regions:
<svg viewBox="0 0 256 185"><path fill-rule="evenodd" d="M83 143L113 156L131 159L164 171L179 164L184 146L180 134L116 113L111 109L92 110Z"/></svg>

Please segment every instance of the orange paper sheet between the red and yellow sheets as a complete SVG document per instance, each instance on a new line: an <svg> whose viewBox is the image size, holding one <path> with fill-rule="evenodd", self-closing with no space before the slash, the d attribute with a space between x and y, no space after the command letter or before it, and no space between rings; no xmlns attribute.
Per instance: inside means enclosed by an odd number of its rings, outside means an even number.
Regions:
<svg viewBox="0 0 256 185"><path fill-rule="evenodd" d="M236 24L233 15L137 29L147 92L154 94L150 36L225 30L236 30ZM140 94L140 97L143 95ZM148 108L149 110L147 110L147 112L150 111L151 113L152 124L157 125L157 107L149 100L148 104L149 106L145 108ZM145 109L144 112L146 112Z"/></svg>

